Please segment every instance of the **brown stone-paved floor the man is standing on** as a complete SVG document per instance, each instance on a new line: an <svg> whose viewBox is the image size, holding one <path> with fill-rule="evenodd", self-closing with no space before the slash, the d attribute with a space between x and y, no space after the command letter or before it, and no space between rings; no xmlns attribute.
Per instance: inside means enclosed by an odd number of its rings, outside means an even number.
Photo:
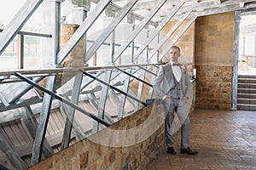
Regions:
<svg viewBox="0 0 256 170"><path fill-rule="evenodd" d="M160 150L148 170L256 169L256 112L196 110L190 115L190 148L198 156L181 155L180 132L175 133L176 156Z"/></svg>

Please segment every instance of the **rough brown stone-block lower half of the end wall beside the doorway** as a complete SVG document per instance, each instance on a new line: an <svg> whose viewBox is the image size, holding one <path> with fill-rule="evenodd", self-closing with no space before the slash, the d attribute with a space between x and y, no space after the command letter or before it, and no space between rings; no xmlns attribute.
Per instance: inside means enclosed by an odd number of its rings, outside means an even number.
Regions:
<svg viewBox="0 0 256 170"><path fill-rule="evenodd" d="M232 105L232 67L196 66L195 107L230 110Z"/></svg>

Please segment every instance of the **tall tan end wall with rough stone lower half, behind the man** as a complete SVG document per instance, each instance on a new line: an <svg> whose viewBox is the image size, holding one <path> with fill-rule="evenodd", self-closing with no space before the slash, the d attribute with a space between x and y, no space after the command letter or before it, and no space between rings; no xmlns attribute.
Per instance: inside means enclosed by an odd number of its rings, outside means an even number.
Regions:
<svg viewBox="0 0 256 170"><path fill-rule="evenodd" d="M196 108L231 109L234 28L233 12L196 20Z"/></svg>

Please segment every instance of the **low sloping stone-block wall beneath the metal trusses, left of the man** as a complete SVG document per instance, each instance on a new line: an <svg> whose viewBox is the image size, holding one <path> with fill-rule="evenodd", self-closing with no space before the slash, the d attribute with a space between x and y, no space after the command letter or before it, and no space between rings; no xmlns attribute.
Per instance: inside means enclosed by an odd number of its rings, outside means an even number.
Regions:
<svg viewBox="0 0 256 170"><path fill-rule="evenodd" d="M146 169L148 162L156 158L159 148L165 144L164 118L162 105L148 105L137 113L114 123L111 127L73 144L29 169ZM150 123L151 120L154 120L154 123ZM143 124L148 127L137 129ZM154 125L159 126L155 131ZM119 139L118 135L109 135L109 129L127 130L127 132L122 139ZM129 129L136 130L129 133ZM140 141L143 135L148 135L148 138ZM134 144L124 144L124 146L113 144L114 141L121 143L128 139L133 139L131 141ZM102 144L95 142L96 140L102 141Z"/></svg>

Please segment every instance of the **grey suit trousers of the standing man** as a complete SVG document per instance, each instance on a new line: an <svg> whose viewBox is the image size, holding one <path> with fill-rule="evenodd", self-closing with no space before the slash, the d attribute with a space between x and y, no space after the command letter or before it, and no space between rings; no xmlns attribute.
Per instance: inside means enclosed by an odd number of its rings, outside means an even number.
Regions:
<svg viewBox="0 0 256 170"><path fill-rule="evenodd" d="M183 99L171 98L166 101L166 145L173 147L173 133L181 127L181 148L189 147L189 111ZM175 114L176 112L176 114ZM177 116L178 123L174 122L174 116Z"/></svg>

